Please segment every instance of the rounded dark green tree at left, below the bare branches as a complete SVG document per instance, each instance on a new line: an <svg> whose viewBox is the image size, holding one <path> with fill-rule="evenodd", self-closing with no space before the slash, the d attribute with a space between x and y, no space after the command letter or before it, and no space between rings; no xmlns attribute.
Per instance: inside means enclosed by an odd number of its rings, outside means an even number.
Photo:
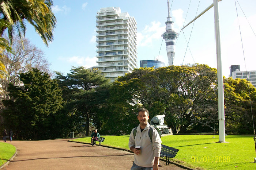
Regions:
<svg viewBox="0 0 256 170"><path fill-rule="evenodd" d="M63 118L59 112L63 104L61 89L38 69L21 73L20 81L23 85L19 87L10 84L11 99L3 101L5 126L16 130L20 139L49 138L54 131L52 124L60 124L57 118Z"/></svg>

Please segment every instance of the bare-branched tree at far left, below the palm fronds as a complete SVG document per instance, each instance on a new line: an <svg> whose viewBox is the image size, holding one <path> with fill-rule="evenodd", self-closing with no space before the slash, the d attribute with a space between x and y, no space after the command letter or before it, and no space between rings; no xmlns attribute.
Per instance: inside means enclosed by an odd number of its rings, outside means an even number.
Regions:
<svg viewBox="0 0 256 170"><path fill-rule="evenodd" d="M23 39L23 45L18 37L13 39L12 52L4 51L2 62L5 66L7 77L0 80L0 84L8 94L8 84L19 86L19 74L32 71L37 68L45 73L50 73L49 62L44 52L33 45L29 39ZM8 98L8 96L5 96Z"/></svg>

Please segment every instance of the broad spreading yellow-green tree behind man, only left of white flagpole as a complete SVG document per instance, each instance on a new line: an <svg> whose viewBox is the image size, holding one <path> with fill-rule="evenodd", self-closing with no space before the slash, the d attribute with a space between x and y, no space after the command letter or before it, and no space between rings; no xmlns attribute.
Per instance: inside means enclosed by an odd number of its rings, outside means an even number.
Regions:
<svg viewBox="0 0 256 170"><path fill-rule="evenodd" d="M214 107L217 97L215 77L215 69L207 65L192 65L155 70L140 68L118 78L110 94L115 102L113 106L124 108L121 117L126 117L123 119L126 125L121 128L126 133L130 131L124 127L133 126L132 117L135 117L138 107L146 107L151 118L165 114L166 124L176 133L187 131L189 125L211 128L217 115ZM211 121L207 120L209 115L212 115Z"/></svg>

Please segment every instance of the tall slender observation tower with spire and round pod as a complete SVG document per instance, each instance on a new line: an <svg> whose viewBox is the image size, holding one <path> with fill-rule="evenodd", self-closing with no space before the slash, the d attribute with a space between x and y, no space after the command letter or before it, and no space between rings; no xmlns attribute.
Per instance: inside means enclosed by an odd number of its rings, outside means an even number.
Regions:
<svg viewBox="0 0 256 170"><path fill-rule="evenodd" d="M175 41L178 38L179 34L173 30L173 21L172 17L170 17L170 9L169 9L169 0L167 0L168 6L168 17L166 24L166 31L161 36L165 40L166 44L166 52L168 57L168 66L174 65L174 55L175 55Z"/></svg>

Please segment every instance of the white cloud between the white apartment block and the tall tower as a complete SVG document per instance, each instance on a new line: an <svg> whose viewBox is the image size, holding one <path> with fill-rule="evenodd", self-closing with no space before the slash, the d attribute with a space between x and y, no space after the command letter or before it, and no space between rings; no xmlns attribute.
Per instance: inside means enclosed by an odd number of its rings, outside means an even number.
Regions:
<svg viewBox="0 0 256 170"><path fill-rule="evenodd" d="M154 39L161 39L163 32L165 32L165 26L161 27L160 22L151 22L142 32L137 33L138 46L151 46Z"/></svg>

